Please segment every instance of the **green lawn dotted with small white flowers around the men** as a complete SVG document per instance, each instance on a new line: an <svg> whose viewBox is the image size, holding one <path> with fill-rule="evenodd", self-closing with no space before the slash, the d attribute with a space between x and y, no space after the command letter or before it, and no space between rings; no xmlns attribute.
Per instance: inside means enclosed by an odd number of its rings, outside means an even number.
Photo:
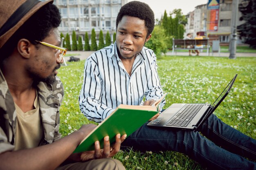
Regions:
<svg viewBox="0 0 256 170"><path fill-rule="evenodd" d="M63 136L90 123L80 112L78 103L84 62L67 62L68 66L62 66L58 71L65 89L60 110ZM256 57L166 56L157 63L162 87L168 92L164 108L172 103L212 103L237 73L233 89L214 113L225 123L256 139ZM127 169L134 170L204 169L186 155L172 151L140 153L122 150L115 158Z"/></svg>

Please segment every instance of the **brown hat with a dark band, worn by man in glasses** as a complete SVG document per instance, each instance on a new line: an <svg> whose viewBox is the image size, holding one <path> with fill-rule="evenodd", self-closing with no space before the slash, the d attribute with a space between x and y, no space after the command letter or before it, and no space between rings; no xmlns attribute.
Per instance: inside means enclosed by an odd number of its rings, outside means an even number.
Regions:
<svg viewBox="0 0 256 170"><path fill-rule="evenodd" d="M38 9L53 0L0 0L0 48Z"/></svg>

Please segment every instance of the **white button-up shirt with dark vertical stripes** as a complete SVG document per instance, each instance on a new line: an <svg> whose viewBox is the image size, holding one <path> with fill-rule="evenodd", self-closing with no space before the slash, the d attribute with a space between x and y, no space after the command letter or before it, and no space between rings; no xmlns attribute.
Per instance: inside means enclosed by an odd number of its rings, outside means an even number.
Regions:
<svg viewBox="0 0 256 170"><path fill-rule="evenodd" d="M137 55L131 76L118 57L116 43L94 52L85 61L83 81L80 110L95 122L103 121L120 104L143 105L144 96L157 100L163 95L155 53L146 47Z"/></svg>

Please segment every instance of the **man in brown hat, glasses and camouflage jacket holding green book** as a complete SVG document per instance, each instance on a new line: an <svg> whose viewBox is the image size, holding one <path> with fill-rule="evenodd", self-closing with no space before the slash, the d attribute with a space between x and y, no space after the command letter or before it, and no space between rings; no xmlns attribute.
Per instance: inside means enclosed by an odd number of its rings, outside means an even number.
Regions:
<svg viewBox="0 0 256 170"><path fill-rule="evenodd" d="M97 141L94 151L77 154L95 125L61 139L64 92L56 70L67 49L59 47L61 16L52 2L0 1L0 169L124 169L110 157L126 135L113 147L106 136L103 149Z"/></svg>

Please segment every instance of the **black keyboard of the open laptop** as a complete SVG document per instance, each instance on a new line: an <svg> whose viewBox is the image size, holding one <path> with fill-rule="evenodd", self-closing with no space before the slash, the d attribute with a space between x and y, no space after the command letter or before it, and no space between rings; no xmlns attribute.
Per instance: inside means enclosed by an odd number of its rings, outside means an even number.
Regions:
<svg viewBox="0 0 256 170"><path fill-rule="evenodd" d="M166 126L180 126L186 127L195 117L195 115L203 107L203 104L187 104L184 106L184 110L181 113L177 113Z"/></svg>

